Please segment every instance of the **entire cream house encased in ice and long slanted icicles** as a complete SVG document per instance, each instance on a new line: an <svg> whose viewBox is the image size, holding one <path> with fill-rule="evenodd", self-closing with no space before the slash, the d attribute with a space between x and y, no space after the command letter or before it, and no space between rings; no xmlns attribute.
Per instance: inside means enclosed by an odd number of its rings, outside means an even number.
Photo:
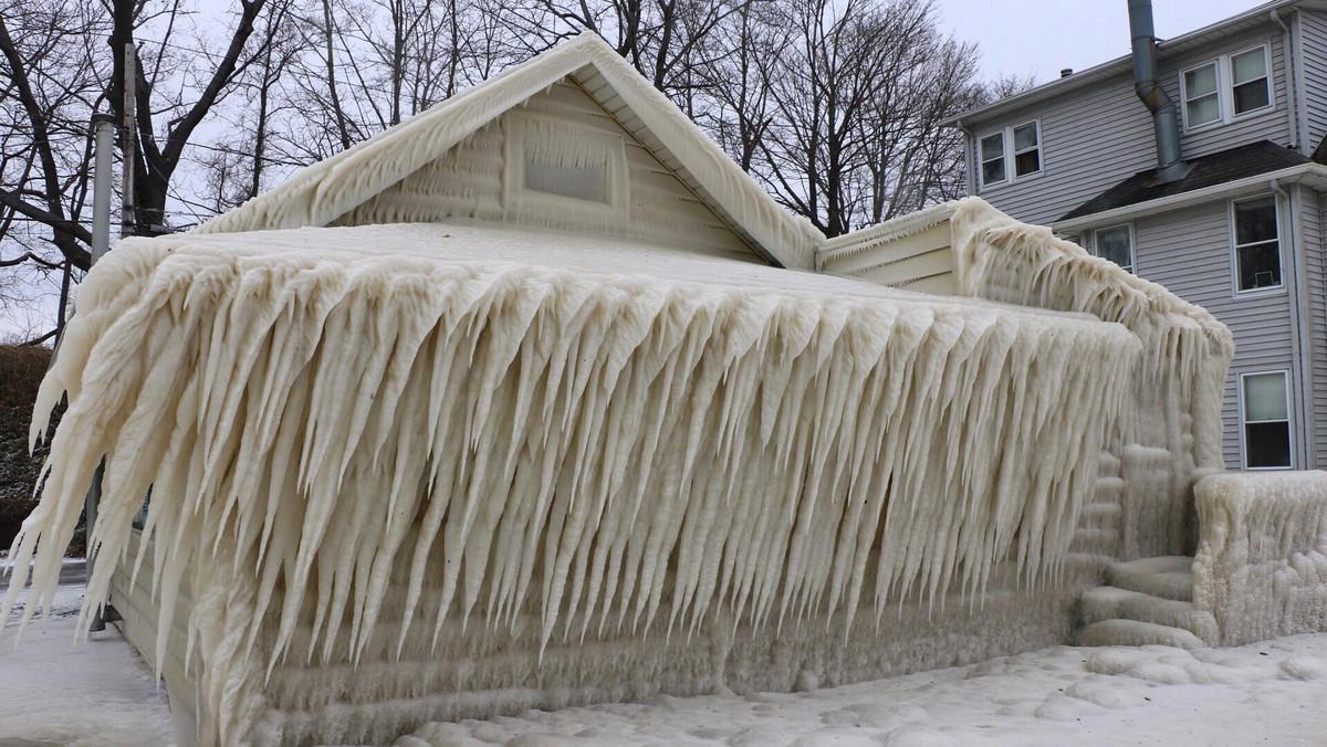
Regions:
<svg viewBox="0 0 1327 747"><path fill-rule="evenodd" d="M827 240L581 36L110 252L7 602L105 456L89 600L204 744L1198 645L1075 616L1185 586L1230 354L977 199Z"/></svg>

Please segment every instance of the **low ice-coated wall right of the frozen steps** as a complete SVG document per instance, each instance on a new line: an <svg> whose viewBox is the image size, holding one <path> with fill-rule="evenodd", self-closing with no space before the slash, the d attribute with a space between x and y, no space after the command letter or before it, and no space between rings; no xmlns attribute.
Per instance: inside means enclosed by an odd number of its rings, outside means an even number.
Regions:
<svg viewBox="0 0 1327 747"><path fill-rule="evenodd" d="M1327 630L1327 472L1209 475L1193 605L1221 645Z"/></svg>

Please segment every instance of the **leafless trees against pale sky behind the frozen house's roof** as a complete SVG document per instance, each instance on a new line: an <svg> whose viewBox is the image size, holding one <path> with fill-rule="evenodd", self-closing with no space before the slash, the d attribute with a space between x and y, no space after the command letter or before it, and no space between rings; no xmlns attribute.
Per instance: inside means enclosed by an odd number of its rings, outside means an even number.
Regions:
<svg viewBox="0 0 1327 747"><path fill-rule="evenodd" d="M24 283L54 293L88 265L88 121L114 88L110 1L0 0L9 296ZM135 223L158 230L587 29L831 236L962 194L959 137L942 123L1030 82L982 85L975 48L906 0L231 0L206 19L194 1L134 5Z"/></svg>

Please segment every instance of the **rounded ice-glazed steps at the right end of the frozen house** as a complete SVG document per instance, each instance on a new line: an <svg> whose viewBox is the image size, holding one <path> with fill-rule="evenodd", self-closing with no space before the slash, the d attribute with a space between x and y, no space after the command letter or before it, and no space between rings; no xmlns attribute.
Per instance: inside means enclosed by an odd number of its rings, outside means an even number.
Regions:
<svg viewBox="0 0 1327 747"><path fill-rule="evenodd" d="M1080 646L1177 646L1216 641L1216 621L1193 608L1193 559L1145 557L1113 563L1112 585L1085 592L1079 602Z"/></svg>

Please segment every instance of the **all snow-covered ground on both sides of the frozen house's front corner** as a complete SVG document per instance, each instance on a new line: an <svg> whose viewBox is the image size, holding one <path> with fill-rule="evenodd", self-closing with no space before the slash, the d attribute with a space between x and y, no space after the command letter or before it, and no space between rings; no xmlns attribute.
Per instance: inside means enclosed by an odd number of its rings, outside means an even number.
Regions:
<svg viewBox="0 0 1327 747"><path fill-rule="evenodd" d="M169 744L165 694L114 632L74 644L82 586L0 641L0 744ZM16 742L16 740L28 742ZM799 694L656 698L437 723L399 747L1327 744L1327 634L1238 649L1046 649Z"/></svg>

